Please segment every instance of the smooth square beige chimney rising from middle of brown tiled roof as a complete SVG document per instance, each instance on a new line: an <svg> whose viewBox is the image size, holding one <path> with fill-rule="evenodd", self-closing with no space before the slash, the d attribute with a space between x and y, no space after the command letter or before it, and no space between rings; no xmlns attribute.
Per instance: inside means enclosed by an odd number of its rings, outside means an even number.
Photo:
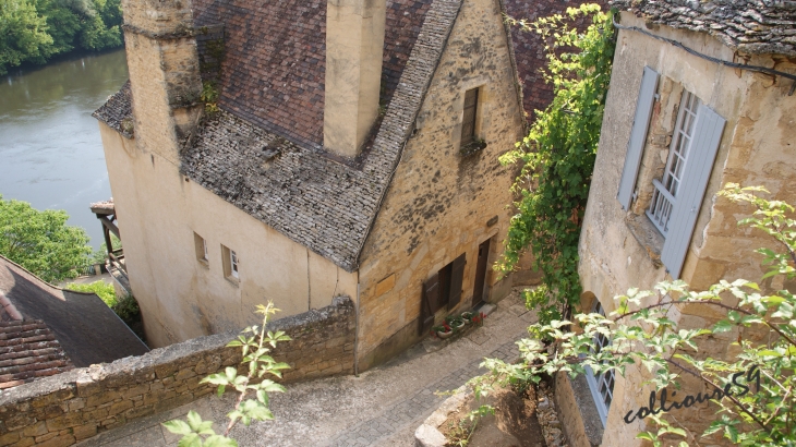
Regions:
<svg viewBox="0 0 796 447"><path fill-rule="evenodd" d="M378 117L386 0L327 0L324 146L355 157Z"/></svg>

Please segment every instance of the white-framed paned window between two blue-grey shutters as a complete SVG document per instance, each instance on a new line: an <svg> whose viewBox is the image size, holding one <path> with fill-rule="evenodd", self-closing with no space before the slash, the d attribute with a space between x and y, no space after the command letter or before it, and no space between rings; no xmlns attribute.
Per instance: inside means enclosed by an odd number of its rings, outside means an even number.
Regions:
<svg viewBox="0 0 796 447"><path fill-rule="evenodd" d="M683 93L677 126L675 128L674 138L672 138L663 182L652 181L655 190L647 216L664 237L668 233L672 209L677 202L677 192L688 162L691 140L694 140L694 122L697 120L699 105L699 98L692 93Z"/></svg>

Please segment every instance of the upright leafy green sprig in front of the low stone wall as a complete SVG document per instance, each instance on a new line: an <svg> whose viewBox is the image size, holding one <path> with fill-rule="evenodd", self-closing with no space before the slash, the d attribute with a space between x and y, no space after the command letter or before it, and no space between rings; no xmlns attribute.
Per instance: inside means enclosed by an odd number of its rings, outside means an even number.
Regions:
<svg viewBox="0 0 796 447"><path fill-rule="evenodd" d="M249 426L252 421L269 421L274 414L268 409L268 392L282 392L285 387L269 378L263 378L266 374L280 377L281 371L290 366L287 363L277 362L268 355L277 342L290 340L284 331L266 331L266 325L272 315L279 312L274 307L273 302L267 305L257 305L256 313L263 315L262 326L250 326L243 329L236 340L227 346L241 347L243 360L241 365L246 370L241 375L234 367L227 367L222 373L210 374L203 378L201 384L213 384L218 386L220 397L227 387L234 388L238 392L234 409L227 413L229 423L224 435L217 435L213 430L212 421L202 421L202 418L191 411L188 413L188 423L180 420L164 423L164 426L171 433L182 435L178 446L191 447L215 447L215 446L238 446L238 442L229 438L229 432L238 422ZM245 366L248 364L248 366ZM258 380L258 382L255 382ZM252 394L254 399L246 399Z"/></svg>

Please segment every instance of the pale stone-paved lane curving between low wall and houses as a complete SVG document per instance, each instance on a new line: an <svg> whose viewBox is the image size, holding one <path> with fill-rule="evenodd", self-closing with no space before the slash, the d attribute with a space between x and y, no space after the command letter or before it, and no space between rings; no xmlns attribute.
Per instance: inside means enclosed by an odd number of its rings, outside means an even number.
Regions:
<svg viewBox="0 0 796 447"><path fill-rule="evenodd" d="M435 391L453 390L483 374L482 358L514 360L514 343L534 322L533 313L512 293L480 328L451 342L425 340L401 357L359 377L345 376L288 385L272 395L275 421L238 425L232 436L240 446L399 446L414 445L414 430L445 399ZM233 396L201 399L164 414L102 433L80 446L176 446L178 437L160 422L183 418L190 409L204 419L226 422Z"/></svg>

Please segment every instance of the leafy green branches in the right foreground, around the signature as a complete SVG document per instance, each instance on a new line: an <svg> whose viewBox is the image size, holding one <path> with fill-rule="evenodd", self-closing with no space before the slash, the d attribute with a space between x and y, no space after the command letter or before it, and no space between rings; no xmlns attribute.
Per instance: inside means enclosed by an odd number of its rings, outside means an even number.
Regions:
<svg viewBox="0 0 796 447"><path fill-rule="evenodd" d="M763 256L763 265L770 266L765 277L784 276L792 281L796 278L794 207L759 197L755 194L759 192L767 191L727 184L720 195L756 207L753 215L739 224L768 233L780 247L779 251L757 251ZM737 304L722 300L731 295ZM627 365L638 364L649 372L651 378L648 383L661 390L672 384L676 386L673 380L688 374L705 384L711 401L719 406L717 419L703 435L721 433L731 443L743 446L796 443L796 298L792 292L776 290L772 294L763 294L757 283L744 279L733 282L722 280L708 291L696 292L689 290L684 281L674 281L661 282L651 291L631 289L615 300L619 303L618 309L608 317L578 314L571 322L553 321L531 326L529 330L536 338L518 342L522 358L520 363L507 364L494 359L484 361L483 364L492 371L491 379L538 382L541 374L559 371L583 374L586 365L594 374L613 370L624 375ZM726 317L711 327L680 329L670 315L673 309L684 305L711 307L725 312ZM578 324L582 331L568 330L572 324ZM757 338L768 341L748 339L750 331L747 328L768 333L768 337ZM733 331L733 339L737 334L737 342L733 343L740 350L737 357L712 359L698 355L700 340L726 331ZM598 334L611 338L612 343L594 352L593 338ZM548 349L540 339L554 340L555 349ZM757 377L761 378L759 387ZM490 383L480 385L489 388ZM716 390L726 386L748 386L751 392L715 395ZM670 410L671 407L663 413ZM662 436L689 436L689 440L694 436L684 428L673 427L665 418L648 418L658 431L644 432L638 437L652 440L656 446L662 445Z"/></svg>

